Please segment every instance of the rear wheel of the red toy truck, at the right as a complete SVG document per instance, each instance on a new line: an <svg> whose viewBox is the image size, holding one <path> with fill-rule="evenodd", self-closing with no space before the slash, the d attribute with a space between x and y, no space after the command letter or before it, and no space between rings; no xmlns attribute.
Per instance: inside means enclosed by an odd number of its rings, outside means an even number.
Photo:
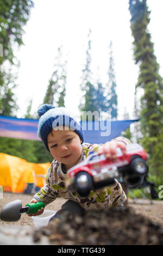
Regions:
<svg viewBox="0 0 163 256"><path fill-rule="evenodd" d="M134 170L134 172L142 175L148 172L146 161L143 160L141 157L136 157L131 162L131 168Z"/></svg>

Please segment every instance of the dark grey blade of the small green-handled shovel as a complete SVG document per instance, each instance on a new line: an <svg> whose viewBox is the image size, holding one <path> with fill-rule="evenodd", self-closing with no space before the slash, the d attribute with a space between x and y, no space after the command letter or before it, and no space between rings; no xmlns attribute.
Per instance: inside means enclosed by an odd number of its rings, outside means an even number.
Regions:
<svg viewBox="0 0 163 256"><path fill-rule="evenodd" d="M11 201L5 204L1 210L0 218L2 221L18 221L21 218L20 209L22 208L21 200Z"/></svg>

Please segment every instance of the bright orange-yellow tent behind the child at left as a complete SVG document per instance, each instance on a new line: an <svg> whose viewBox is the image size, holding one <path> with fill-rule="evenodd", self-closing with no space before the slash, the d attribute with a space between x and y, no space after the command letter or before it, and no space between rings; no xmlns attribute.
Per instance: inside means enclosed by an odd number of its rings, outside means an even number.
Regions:
<svg viewBox="0 0 163 256"><path fill-rule="evenodd" d="M29 163L16 156L0 153L0 186L4 191L22 193L28 183L34 183L35 174L46 174L51 163ZM42 179L36 186L42 187Z"/></svg>

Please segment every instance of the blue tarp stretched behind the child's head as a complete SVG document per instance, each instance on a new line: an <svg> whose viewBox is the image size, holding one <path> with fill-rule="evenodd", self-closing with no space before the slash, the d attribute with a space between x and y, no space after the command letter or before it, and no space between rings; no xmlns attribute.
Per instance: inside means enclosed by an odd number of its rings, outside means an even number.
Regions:
<svg viewBox="0 0 163 256"><path fill-rule="evenodd" d="M84 141L88 143L105 143L120 136L131 123L139 121L81 121L84 130ZM37 137L37 126L39 120L5 117L0 115L0 136L18 139L31 139L39 141Z"/></svg>

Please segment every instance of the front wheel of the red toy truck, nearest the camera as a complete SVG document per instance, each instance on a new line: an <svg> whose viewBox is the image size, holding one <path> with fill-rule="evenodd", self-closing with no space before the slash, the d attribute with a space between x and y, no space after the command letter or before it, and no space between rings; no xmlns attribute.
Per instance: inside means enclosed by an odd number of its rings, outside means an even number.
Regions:
<svg viewBox="0 0 163 256"><path fill-rule="evenodd" d="M74 179L77 192L80 196L86 197L89 195L92 187L92 177L87 172L79 172Z"/></svg>

